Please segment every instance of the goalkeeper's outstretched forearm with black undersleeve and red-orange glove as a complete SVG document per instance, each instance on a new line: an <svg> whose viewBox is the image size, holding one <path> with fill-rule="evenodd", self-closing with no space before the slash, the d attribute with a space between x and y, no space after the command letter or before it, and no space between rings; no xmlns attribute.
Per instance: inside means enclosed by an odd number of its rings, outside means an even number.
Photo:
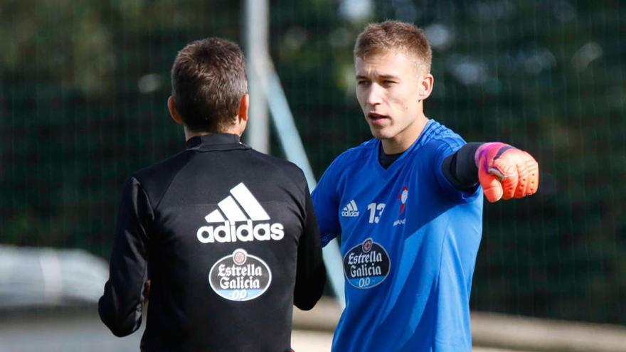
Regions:
<svg viewBox="0 0 626 352"><path fill-rule="evenodd" d="M492 203L530 196L539 186L539 165L531 154L500 142L465 144L444 159L442 171L462 191L480 183Z"/></svg>

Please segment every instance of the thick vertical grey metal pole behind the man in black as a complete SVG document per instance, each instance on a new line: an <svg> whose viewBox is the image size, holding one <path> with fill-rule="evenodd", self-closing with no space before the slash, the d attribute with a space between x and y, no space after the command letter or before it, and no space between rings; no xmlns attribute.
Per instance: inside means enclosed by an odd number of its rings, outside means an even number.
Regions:
<svg viewBox="0 0 626 352"><path fill-rule="evenodd" d="M250 119L244 134L245 142L262 153L270 152L270 127L267 100L262 82L267 80L265 55L269 32L269 6L267 0L244 0L244 51L248 60L248 92L250 93Z"/></svg>

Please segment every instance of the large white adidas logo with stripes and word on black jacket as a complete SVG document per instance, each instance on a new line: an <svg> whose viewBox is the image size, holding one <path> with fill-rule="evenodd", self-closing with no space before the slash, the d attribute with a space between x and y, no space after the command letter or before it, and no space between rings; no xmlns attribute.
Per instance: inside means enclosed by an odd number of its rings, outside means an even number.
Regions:
<svg viewBox="0 0 626 352"><path fill-rule="evenodd" d="M269 222L270 215L243 182L233 187L230 196L218 203L218 209L208 213L204 220L210 225L196 232L202 243L282 240L285 237L282 223ZM260 221L263 222L258 223Z"/></svg>

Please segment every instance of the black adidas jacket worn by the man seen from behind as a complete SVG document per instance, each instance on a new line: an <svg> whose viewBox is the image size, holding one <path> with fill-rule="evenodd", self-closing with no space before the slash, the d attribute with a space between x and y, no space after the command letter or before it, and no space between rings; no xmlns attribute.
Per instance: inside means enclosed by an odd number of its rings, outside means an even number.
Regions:
<svg viewBox="0 0 626 352"><path fill-rule="evenodd" d="M211 134L134 174L98 304L116 336L139 328L147 279L142 351L290 351L292 304L326 280L302 171Z"/></svg>

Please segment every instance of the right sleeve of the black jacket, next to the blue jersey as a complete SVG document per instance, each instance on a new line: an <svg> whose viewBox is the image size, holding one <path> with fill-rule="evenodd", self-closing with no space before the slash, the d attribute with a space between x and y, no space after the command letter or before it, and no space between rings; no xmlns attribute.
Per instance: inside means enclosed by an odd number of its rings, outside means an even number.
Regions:
<svg viewBox="0 0 626 352"><path fill-rule="evenodd" d="M298 242L294 304L299 309L309 310L322 297L324 284L326 284L326 269L322 259L319 228L317 227L309 188L307 188L304 198L306 214L304 228Z"/></svg>

